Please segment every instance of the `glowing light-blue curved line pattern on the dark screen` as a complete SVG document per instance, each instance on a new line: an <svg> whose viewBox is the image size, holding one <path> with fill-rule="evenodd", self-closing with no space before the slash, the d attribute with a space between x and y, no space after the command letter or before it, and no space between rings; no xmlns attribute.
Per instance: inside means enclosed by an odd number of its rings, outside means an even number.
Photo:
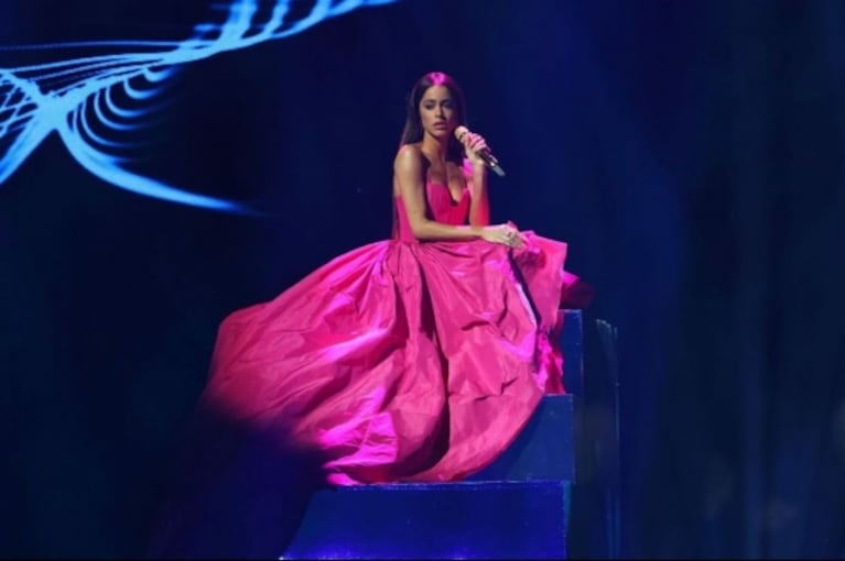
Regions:
<svg viewBox="0 0 845 561"><path fill-rule="evenodd" d="M366 6L397 0L311 0L304 15L291 15L293 2L306 0L232 0L225 21L194 28L185 41L102 41L2 47L53 50L119 48L52 63L0 68L0 184L6 182L39 144L56 131L71 154L97 177L129 191L172 202L232 212L246 206L185 191L128 166L140 145L131 134L150 124L161 107L167 79L181 66L218 53L300 33L321 21ZM271 10L268 10L272 7ZM259 20L259 10L269 15ZM303 10L297 7L297 14Z"/></svg>

